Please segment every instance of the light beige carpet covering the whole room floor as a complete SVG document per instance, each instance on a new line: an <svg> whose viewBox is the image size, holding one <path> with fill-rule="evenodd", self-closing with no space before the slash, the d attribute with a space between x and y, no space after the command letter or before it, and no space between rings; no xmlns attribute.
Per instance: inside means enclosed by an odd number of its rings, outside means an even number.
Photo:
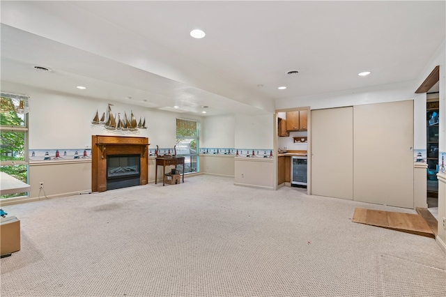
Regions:
<svg viewBox="0 0 446 297"><path fill-rule="evenodd" d="M22 250L1 296L446 296L433 239L355 207L415 213L207 175L5 206Z"/></svg>

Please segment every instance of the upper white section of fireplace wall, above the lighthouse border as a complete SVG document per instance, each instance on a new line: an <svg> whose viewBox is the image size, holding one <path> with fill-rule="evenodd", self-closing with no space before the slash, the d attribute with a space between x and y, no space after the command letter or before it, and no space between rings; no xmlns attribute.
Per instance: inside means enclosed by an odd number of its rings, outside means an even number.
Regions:
<svg viewBox="0 0 446 297"><path fill-rule="evenodd" d="M13 91L13 90L12 90ZM72 97L33 90L29 94L29 148L85 148L91 135L148 137L149 148L173 148L176 144L176 118L201 121L201 116L184 116L136 105L94 98ZM147 129L137 133L116 134L101 125L92 125L96 110L102 114L112 103L114 114L146 117Z"/></svg>

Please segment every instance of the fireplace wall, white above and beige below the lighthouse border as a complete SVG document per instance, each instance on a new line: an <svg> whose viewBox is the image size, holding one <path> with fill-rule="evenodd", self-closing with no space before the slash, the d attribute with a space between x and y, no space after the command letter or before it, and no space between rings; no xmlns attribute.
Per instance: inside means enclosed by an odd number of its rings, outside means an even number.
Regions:
<svg viewBox="0 0 446 297"><path fill-rule="evenodd" d="M3 87L5 89L3 89ZM15 84L2 82L2 91L15 93ZM91 146L91 135L115 135L148 137L154 149L173 148L176 144L176 118L202 121L201 116L189 116L174 112L164 112L131 104L66 96L61 93L48 93L39 89L28 88L29 98L29 148L30 149L59 149L86 148ZM93 125L91 121L96 110L102 115L107 105L112 103L112 112L124 112L134 116L146 117L147 129L139 129L136 133L116 134L102 126ZM202 137L202 136L201 136ZM88 169L87 169L88 167ZM155 181L155 168L149 162L149 181ZM54 178L57 177L57 178ZM69 160L32 162L29 169L29 197L35 198L39 194L38 183L45 183L47 196L60 196L75 192L91 190L91 162Z"/></svg>

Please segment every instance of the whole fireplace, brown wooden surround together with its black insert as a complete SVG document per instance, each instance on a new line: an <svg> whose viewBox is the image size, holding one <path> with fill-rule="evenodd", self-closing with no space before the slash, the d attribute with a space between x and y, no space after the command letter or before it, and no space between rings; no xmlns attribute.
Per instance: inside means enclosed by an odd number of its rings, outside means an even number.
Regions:
<svg viewBox="0 0 446 297"><path fill-rule="evenodd" d="M146 137L92 135L91 190L105 192L128 186L146 185L148 145ZM130 157L130 161L125 161L124 157ZM110 168L107 168L107 162L112 162L112 173L109 172ZM121 175L117 176L119 172Z"/></svg>

